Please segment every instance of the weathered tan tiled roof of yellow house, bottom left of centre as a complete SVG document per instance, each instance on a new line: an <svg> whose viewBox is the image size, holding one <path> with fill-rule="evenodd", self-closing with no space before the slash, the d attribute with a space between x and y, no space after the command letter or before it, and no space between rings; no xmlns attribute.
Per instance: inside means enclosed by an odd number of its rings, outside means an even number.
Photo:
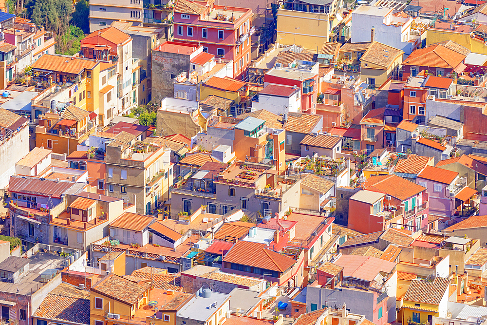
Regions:
<svg viewBox="0 0 487 325"><path fill-rule="evenodd" d="M135 304L140 296L150 288L150 284L139 282L134 283L121 276L110 273L101 281L91 287L92 291L100 292L126 304Z"/></svg>

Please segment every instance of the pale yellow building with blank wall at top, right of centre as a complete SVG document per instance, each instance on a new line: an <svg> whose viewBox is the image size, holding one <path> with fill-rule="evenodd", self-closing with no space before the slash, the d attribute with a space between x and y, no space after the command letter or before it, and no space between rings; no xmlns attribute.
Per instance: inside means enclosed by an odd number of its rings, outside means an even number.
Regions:
<svg viewBox="0 0 487 325"><path fill-rule="evenodd" d="M282 44L316 51L317 46L321 48L324 42L333 41L332 30L341 21L337 19L341 3L341 0L326 5L305 0L281 3L277 12L277 39Z"/></svg>

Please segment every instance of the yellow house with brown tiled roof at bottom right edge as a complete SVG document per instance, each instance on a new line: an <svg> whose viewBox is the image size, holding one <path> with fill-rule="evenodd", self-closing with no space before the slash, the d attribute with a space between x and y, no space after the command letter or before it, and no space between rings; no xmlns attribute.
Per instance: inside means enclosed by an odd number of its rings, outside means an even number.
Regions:
<svg viewBox="0 0 487 325"><path fill-rule="evenodd" d="M403 325L419 325L432 324L433 317L447 317L450 283L451 279L440 277L412 280L401 299L397 319Z"/></svg>

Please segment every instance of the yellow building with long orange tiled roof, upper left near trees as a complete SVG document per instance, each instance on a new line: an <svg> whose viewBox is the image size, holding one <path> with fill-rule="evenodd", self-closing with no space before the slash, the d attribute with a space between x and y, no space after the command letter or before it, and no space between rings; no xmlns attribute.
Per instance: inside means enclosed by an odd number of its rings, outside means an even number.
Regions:
<svg viewBox="0 0 487 325"><path fill-rule="evenodd" d="M32 64L32 78L44 88L56 84L56 92L68 88L67 101L94 112L99 125L107 125L117 112L116 63L45 54Z"/></svg>

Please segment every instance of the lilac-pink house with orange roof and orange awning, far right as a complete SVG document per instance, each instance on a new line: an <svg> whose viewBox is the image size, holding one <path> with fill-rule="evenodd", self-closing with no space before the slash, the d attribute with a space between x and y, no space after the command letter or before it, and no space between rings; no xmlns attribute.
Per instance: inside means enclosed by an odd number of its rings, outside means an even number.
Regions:
<svg viewBox="0 0 487 325"><path fill-rule="evenodd" d="M458 172L426 166L416 177L416 183L431 194L430 213L443 217L461 216L466 204L474 198L476 190L467 186L467 178Z"/></svg>

